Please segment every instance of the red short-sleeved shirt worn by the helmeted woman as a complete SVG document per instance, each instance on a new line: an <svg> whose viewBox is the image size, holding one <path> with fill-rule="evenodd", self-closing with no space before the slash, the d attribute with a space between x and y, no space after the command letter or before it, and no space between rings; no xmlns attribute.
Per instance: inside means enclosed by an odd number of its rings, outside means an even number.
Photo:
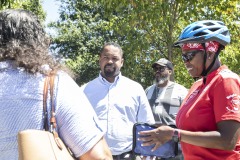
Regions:
<svg viewBox="0 0 240 160"><path fill-rule="evenodd" d="M206 84L196 81L183 105L176 124L188 131L215 131L222 120L240 122L240 78L226 66L207 76ZM240 139L232 151L210 149L181 142L184 160L239 160Z"/></svg>

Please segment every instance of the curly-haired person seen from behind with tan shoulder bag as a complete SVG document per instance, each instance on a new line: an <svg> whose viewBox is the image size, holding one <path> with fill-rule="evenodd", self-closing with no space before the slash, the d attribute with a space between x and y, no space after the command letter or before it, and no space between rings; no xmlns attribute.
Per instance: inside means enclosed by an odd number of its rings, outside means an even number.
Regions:
<svg viewBox="0 0 240 160"><path fill-rule="evenodd" d="M66 69L49 55L49 43L32 13L0 12L0 159L18 159L19 131L43 129L44 81L52 74L59 136L79 159L112 159L94 110Z"/></svg>

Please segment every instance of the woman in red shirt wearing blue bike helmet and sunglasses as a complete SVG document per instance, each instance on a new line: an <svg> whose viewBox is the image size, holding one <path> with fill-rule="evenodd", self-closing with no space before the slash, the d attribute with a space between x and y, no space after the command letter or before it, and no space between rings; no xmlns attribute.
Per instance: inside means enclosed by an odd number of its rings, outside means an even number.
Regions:
<svg viewBox="0 0 240 160"><path fill-rule="evenodd" d="M219 53L230 43L221 21L188 25L175 46L181 47L192 85L176 118L178 129L160 126L140 138L156 150L173 139L181 143L184 160L240 159L240 78L221 65ZM200 78L200 79L199 79Z"/></svg>

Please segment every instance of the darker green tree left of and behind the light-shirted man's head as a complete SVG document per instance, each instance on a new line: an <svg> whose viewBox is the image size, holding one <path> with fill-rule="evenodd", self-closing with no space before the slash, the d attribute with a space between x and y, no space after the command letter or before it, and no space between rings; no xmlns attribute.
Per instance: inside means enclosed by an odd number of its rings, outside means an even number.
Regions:
<svg viewBox="0 0 240 160"><path fill-rule="evenodd" d="M86 1L61 1L60 21L50 24L57 30L52 52L67 59L67 65L79 77L82 85L99 73L98 54L107 41L119 41L113 36L112 23L104 18L99 4Z"/></svg>

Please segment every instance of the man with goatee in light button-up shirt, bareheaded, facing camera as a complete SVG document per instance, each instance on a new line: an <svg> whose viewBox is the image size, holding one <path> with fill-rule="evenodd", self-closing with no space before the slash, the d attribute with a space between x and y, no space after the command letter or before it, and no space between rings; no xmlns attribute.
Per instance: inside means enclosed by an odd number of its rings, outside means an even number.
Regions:
<svg viewBox="0 0 240 160"><path fill-rule="evenodd" d="M114 160L135 159L133 125L154 123L142 86L121 74L123 62L121 47L117 43L106 43L99 56L99 76L81 87L106 131L105 138Z"/></svg>

